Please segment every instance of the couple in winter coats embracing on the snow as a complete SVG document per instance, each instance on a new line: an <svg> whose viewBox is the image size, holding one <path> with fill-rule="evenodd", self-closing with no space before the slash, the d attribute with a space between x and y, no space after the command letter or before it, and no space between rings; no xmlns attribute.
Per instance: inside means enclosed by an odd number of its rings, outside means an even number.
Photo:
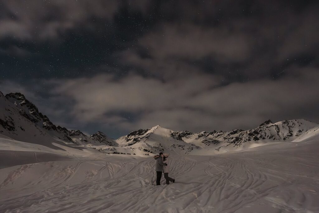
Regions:
<svg viewBox="0 0 319 213"><path fill-rule="evenodd" d="M168 165L168 154L163 154L160 152L159 155L155 155L154 159L155 170L156 170L156 185L160 185L160 179L162 178L162 172L164 173L164 178L166 179L166 184L169 184L169 181L175 182L175 179L168 177L169 165Z"/></svg>

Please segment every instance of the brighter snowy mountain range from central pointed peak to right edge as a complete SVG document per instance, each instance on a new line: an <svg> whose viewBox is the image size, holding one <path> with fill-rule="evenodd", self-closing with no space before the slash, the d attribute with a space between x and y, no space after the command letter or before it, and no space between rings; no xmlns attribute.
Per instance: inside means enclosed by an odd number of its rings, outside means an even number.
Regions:
<svg viewBox="0 0 319 213"><path fill-rule="evenodd" d="M191 133L173 131L161 126L133 131L116 141L119 146L145 150L151 153L177 152L185 154L216 154L248 149L271 142L294 141L304 137L319 125L305 119L272 123L267 120L255 129L234 129L229 132Z"/></svg>

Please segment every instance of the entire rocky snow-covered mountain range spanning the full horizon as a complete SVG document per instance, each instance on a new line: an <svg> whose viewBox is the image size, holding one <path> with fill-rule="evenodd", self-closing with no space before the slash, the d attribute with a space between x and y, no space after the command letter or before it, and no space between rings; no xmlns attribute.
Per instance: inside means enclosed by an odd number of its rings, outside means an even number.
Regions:
<svg viewBox="0 0 319 213"><path fill-rule="evenodd" d="M102 132L85 135L54 125L47 116L21 93L0 92L0 133L14 140L54 147L91 147L107 154L152 155L159 152L178 154L216 154L248 149L284 141L302 141L319 131L319 125L305 119L272 123L267 120L255 129L191 133L161 126L133 131L117 140ZM56 148L56 147L55 147Z"/></svg>

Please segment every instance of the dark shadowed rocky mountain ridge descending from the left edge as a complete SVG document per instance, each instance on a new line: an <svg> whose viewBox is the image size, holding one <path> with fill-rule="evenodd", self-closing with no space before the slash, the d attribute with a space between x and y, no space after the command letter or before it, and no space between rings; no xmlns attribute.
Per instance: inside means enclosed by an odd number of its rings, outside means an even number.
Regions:
<svg viewBox="0 0 319 213"><path fill-rule="evenodd" d="M0 92L0 133L14 140L54 147L73 143L78 146L108 145L116 142L101 132L87 136L79 130L54 125L47 116L21 93L3 95ZM74 146L74 145L72 145Z"/></svg>

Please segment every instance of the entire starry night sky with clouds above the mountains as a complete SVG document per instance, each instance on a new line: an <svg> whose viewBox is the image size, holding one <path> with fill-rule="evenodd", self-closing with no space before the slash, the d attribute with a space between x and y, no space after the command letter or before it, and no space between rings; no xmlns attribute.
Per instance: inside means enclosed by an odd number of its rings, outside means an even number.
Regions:
<svg viewBox="0 0 319 213"><path fill-rule="evenodd" d="M319 1L0 1L0 91L118 138L319 122Z"/></svg>

